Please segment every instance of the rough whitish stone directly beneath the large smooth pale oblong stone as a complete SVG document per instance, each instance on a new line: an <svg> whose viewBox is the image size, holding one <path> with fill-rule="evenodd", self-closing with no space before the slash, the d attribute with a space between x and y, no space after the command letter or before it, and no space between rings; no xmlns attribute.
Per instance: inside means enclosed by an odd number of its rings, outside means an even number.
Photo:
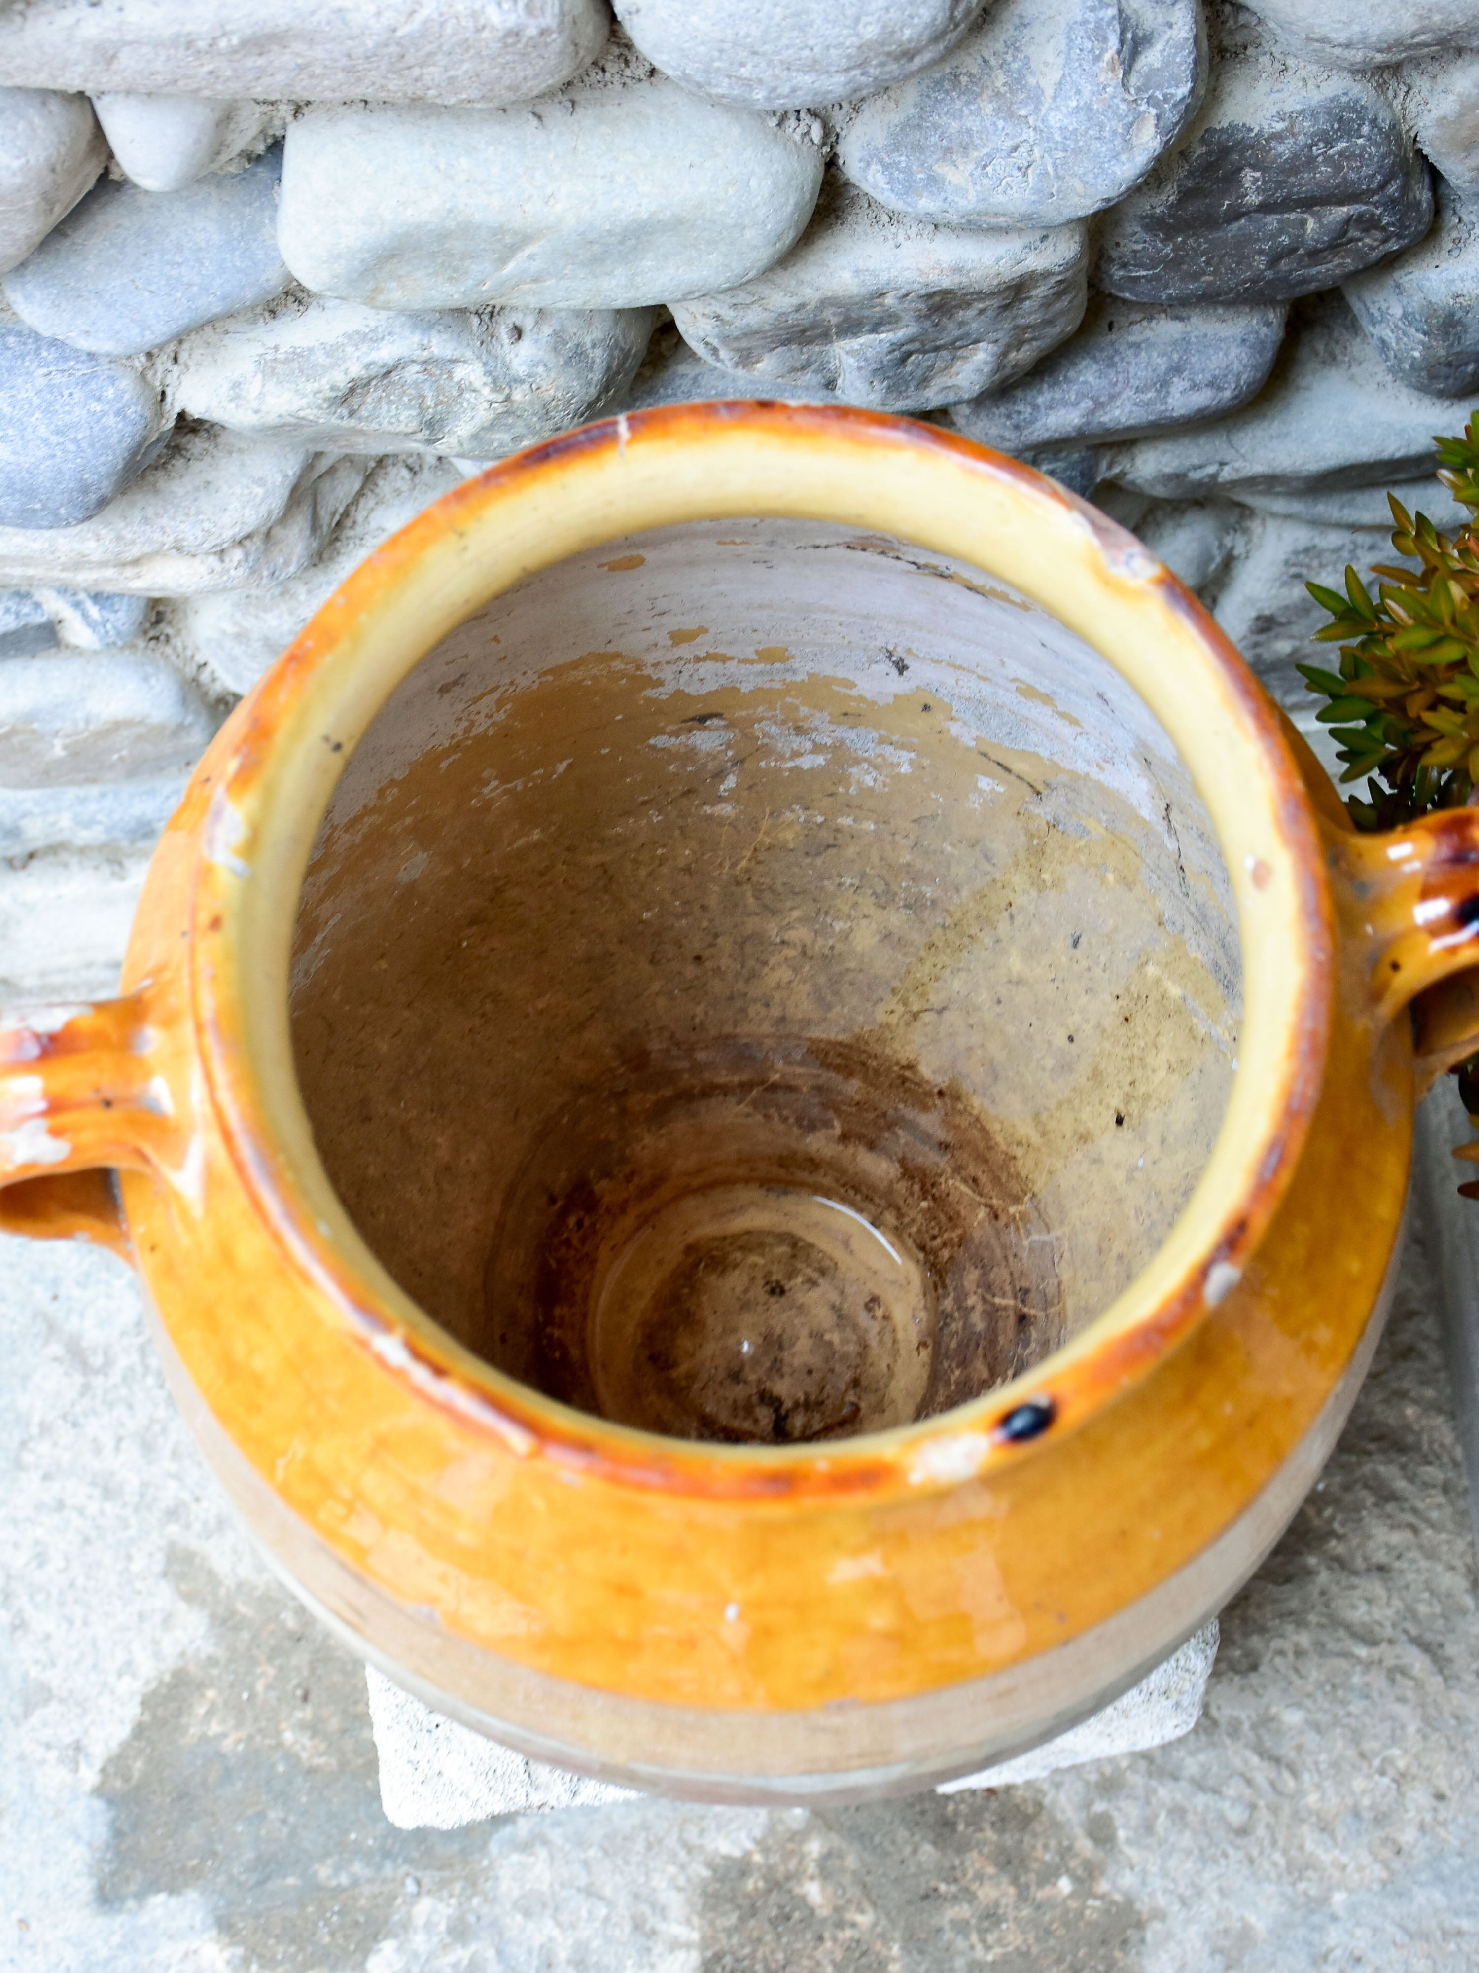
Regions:
<svg viewBox="0 0 1479 1973"><path fill-rule="evenodd" d="M284 296L176 351L179 408L345 452L501 458L627 389L653 310L388 314Z"/></svg>

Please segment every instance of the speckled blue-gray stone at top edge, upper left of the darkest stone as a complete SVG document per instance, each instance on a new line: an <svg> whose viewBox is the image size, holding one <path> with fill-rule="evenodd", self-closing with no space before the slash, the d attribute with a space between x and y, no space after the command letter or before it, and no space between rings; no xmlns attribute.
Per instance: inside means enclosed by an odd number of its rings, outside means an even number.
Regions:
<svg viewBox="0 0 1479 1973"><path fill-rule="evenodd" d="M1061 225L1144 178L1205 77L1197 0L998 0L952 55L870 97L838 160L899 213Z"/></svg>

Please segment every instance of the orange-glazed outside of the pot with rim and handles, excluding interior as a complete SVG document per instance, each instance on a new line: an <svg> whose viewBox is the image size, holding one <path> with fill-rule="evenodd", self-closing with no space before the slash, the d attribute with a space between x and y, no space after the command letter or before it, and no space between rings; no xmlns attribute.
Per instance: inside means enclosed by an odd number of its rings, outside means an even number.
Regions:
<svg viewBox="0 0 1479 1973"><path fill-rule="evenodd" d="M633 1432L471 1355L327 1182L288 1028L319 819L408 669L538 566L736 513L960 556L1102 651L1207 805L1246 983L1203 1180L1112 1306L1016 1385L807 1446ZM223 728L156 856L130 998L0 1032L0 1172L22 1180L0 1213L116 1239L69 1174L122 1168L166 1363L260 1537L479 1724L698 1793L960 1772L1217 1608L1355 1395L1414 1073L1463 1040L1475 837L1444 817L1357 840L1315 777L1173 578L1023 468L848 412L596 426L379 550Z"/></svg>

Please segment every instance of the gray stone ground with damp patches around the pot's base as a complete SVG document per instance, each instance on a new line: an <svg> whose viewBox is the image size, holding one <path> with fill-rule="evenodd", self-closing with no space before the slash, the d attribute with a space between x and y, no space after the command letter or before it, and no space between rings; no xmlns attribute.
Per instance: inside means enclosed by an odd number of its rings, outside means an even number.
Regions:
<svg viewBox="0 0 1479 1973"><path fill-rule="evenodd" d="M254 1561L122 1267L0 1243L2 1973L1449 1973L1475 1551L1422 1227L1201 1724L1004 1791L381 1813L365 1675Z"/></svg>

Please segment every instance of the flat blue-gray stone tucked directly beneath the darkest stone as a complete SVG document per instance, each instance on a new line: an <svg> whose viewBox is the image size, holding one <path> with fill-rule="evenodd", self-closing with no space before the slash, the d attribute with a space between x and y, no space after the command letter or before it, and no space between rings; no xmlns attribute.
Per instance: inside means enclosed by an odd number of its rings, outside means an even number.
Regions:
<svg viewBox="0 0 1479 1973"><path fill-rule="evenodd" d="M1134 438L1246 404L1278 355L1286 308L1156 308L1096 294L1079 333L1006 391L956 404L1004 452Z"/></svg>

